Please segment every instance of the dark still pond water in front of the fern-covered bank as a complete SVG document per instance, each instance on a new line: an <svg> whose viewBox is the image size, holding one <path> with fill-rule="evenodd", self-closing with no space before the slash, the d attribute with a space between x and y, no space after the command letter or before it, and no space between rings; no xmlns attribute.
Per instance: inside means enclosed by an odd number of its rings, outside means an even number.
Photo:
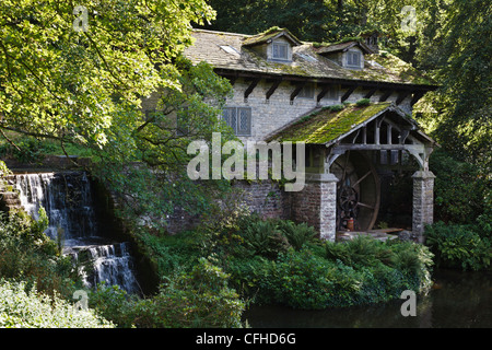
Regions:
<svg viewBox="0 0 492 350"><path fill-rule="evenodd" d="M406 300L323 311L253 306L245 319L255 328L492 328L492 271L437 270L434 287L418 295L417 316L402 316Z"/></svg>

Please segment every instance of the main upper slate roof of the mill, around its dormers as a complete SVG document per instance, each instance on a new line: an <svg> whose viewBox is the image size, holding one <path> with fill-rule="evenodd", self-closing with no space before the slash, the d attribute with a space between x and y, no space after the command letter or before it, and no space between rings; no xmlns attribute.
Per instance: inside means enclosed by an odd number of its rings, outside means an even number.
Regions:
<svg viewBox="0 0 492 350"><path fill-rule="evenodd" d="M269 33L268 35L277 34ZM194 63L207 61L220 70L303 77L312 80L331 79L434 85L430 79L411 65L388 52L365 55L364 69L351 70L319 55L318 50L321 48L326 50L326 45L316 48L312 43L300 42L301 45L292 46L293 61L282 63L267 60L248 45L245 46L245 42L251 44L251 39L255 39L254 35L194 30L192 37L195 43L185 49L184 55ZM259 42L263 42L263 38L259 38Z"/></svg>

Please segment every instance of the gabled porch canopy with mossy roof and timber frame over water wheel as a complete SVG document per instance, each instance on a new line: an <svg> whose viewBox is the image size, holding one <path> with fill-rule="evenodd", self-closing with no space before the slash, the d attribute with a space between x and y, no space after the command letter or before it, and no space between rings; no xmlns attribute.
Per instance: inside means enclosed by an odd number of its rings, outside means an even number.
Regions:
<svg viewBox="0 0 492 350"><path fill-rule="evenodd" d="M429 171L429 156L437 143L395 103L353 104L338 109L313 110L268 140L324 144L328 150L326 170L347 151L407 151L421 170Z"/></svg>

